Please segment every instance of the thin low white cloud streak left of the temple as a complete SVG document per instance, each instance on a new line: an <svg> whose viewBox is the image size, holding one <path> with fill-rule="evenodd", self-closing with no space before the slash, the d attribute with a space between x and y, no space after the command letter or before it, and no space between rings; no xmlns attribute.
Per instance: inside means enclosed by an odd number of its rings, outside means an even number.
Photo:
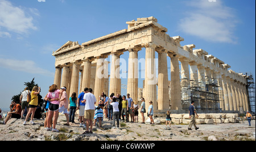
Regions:
<svg viewBox="0 0 256 152"><path fill-rule="evenodd" d="M54 73L51 73L48 70L40 68L38 65L35 64L34 61L30 60L22 61L0 58L0 67L4 67L15 71L23 71L31 74L41 74L46 75L48 77L54 77Z"/></svg>

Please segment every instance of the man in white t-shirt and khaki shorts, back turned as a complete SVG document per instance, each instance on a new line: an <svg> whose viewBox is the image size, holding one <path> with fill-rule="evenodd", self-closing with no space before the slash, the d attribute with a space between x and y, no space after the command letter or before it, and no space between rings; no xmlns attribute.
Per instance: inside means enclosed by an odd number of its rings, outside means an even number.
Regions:
<svg viewBox="0 0 256 152"><path fill-rule="evenodd" d="M86 131L84 133L93 133L93 119L94 119L94 111L97 100L96 97L92 94L92 88L89 88L88 93L84 95L84 100L82 103L85 103L85 119L86 119ZM89 132L90 125L90 132Z"/></svg>

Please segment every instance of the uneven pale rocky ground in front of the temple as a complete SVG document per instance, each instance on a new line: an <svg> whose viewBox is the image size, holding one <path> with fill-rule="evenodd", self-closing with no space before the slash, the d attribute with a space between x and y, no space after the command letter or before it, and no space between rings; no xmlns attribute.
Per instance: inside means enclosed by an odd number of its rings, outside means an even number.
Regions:
<svg viewBox="0 0 256 152"><path fill-rule="evenodd" d="M141 118L140 118L141 119ZM142 122L139 119L139 122ZM147 119L147 117L146 117ZM165 119L162 119L164 122ZM71 141L255 141L255 120L248 126L247 121L229 124L201 124L199 130L188 130L188 124L172 124L171 130L166 125L121 123L119 129L112 129L112 121L104 119L102 128L93 126L92 134L82 134L85 129L76 124L63 125L65 116L60 115L57 123L59 133L44 130L44 120L34 120L35 125L29 122L23 125L24 120L11 119L6 125L0 125L1 141L44 141L44 140L71 140Z"/></svg>

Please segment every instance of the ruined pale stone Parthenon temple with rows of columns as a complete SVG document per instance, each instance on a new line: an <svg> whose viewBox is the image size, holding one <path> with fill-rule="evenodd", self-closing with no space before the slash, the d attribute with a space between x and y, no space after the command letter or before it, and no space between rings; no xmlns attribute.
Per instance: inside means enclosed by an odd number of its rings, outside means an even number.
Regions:
<svg viewBox="0 0 256 152"><path fill-rule="evenodd" d="M183 37L169 36L167 28L152 16L126 24L127 29L82 44L68 41L53 52L54 83L59 88L66 86L69 96L72 92L79 94L85 87L93 88L96 98L101 92L120 94L120 56L129 51L127 94L137 101L143 96L146 109L152 101L154 112L171 109L174 113L184 113L194 100L196 109L205 113L249 110L246 75L234 72L230 65L207 51L194 49L194 44L181 46ZM143 81L138 81L139 51L145 54ZM110 55L109 75L109 61L105 58ZM171 67L169 73L168 67ZM138 83L143 83L143 88L138 88Z"/></svg>

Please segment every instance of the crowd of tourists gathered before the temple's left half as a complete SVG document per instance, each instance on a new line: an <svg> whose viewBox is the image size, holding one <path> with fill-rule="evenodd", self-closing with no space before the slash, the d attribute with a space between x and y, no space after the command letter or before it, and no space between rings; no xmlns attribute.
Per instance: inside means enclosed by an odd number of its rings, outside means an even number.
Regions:
<svg viewBox="0 0 256 152"><path fill-rule="evenodd" d="M101 96L93 95L92 88L84 88L78 96L76 92L73 92L68 99L67 87L63 86L60 89L57 85L53 84L49 86L49 92L44 96L44 102L40 107L38 94L40 94L40 87L35 86L30 92L28 87L24 89L20 95L19 102L11 102L10 112L7 113L5 121L6 124L11 118L24 119L23 125L28 123L34 123L34 118L39 119L45 116L44 127L47 131L59 132L56 129L57 119L59 113L63 113L67 119L68 125L75 123L76 112L79 112L79 126L86 128L85 133L92 133L92 126L96 124L102 127L102 121L105 118L108 121L112 121L113 128L119 128L119 121L125 123L138 123L138 115L142 115L142 124L145 123L144 113L145 100L141 98L141 105L138 105L137 101L134 101L130 94L127 96L117 94L115 96L112 93L109 97L102 92ZM98 103L97 103L98 102ZM96 106L96 103L98 106ZM154 124L152 116L154 109L152 102L150 101L150 107L148 108L148 116L151 123ZM42 113L43 111L43 113ZM40 116L39 116L40 114ZM26 115L25 117L23 117Z"/></svg>

